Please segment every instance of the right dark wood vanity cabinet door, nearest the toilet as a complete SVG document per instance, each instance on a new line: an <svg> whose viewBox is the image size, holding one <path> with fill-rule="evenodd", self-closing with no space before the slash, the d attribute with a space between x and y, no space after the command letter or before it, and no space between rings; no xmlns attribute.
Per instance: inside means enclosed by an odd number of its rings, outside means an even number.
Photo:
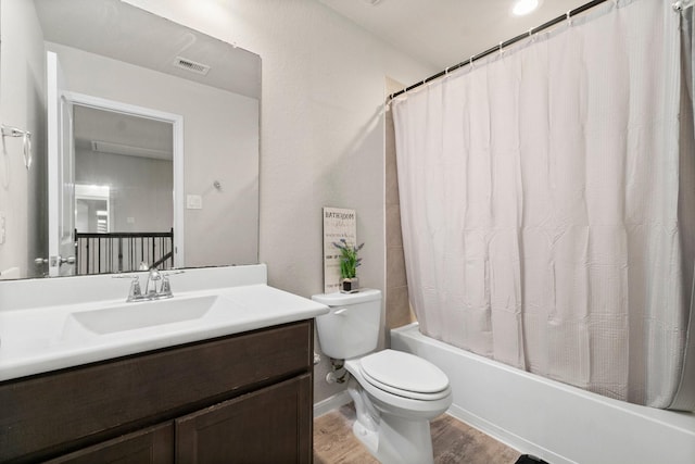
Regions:
<svg viewBox="0 0 695 464"><path fill-rule="evenodd" d="M309 464L312 389L306 374L177 419L177 462Z"/></svg>

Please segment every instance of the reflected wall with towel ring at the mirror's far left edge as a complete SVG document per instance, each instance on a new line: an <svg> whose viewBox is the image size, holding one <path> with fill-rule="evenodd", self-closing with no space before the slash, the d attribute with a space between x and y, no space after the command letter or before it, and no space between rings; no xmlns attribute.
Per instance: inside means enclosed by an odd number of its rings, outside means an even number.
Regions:
<svg viewBox="0 0 695 464"><path fill-rule="evenodd" d="M8 137L0 145L0 213L5 216L0 273L18 267L21 277L30 277L34 258L48 254L46 234L36 234L46 228L46 211L35 208L46 203L43 35L33 2L2 0L0 10L0 122L29 130L34 146L27 171L21 138Z"/></svg>

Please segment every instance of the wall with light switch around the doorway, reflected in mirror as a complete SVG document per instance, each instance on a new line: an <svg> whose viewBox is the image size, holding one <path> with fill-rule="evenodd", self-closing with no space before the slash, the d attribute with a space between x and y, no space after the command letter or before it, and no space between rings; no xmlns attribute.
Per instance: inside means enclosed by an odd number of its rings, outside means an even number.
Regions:
<svg viewBox="0 0 695 464"><path fill-rule="evenodd" d="M203 198L202 210L184 215L186 266L257 262L255 203L240 206L258 188L257 100L71 47L47 46L58 53L70 90L184 116L185 189ZM213 188L215 180L222 191Z"/></svg>

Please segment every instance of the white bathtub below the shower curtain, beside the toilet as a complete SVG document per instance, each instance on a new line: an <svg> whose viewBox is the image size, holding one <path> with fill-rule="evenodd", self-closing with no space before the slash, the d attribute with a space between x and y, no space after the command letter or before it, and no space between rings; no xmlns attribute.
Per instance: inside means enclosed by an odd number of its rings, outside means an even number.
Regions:
<svg viewBox="0 0 695 464"><path fill-rule="evenodd" d="M452 416L552 464L694 464L695 414L611 400L426 337L391 330L391 348L450 378Z"/></svg>

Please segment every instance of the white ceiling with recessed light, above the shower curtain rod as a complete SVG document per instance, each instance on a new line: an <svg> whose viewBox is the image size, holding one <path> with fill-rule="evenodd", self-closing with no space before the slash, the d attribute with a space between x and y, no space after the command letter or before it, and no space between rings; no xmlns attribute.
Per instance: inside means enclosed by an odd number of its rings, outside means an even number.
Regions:
<svg viewBox="0 0 695 464"><path fill-rule="evenodd" d="M318 0L437 71L527 33L587 0L541 0L514 16L514 0Z"/></svg>

